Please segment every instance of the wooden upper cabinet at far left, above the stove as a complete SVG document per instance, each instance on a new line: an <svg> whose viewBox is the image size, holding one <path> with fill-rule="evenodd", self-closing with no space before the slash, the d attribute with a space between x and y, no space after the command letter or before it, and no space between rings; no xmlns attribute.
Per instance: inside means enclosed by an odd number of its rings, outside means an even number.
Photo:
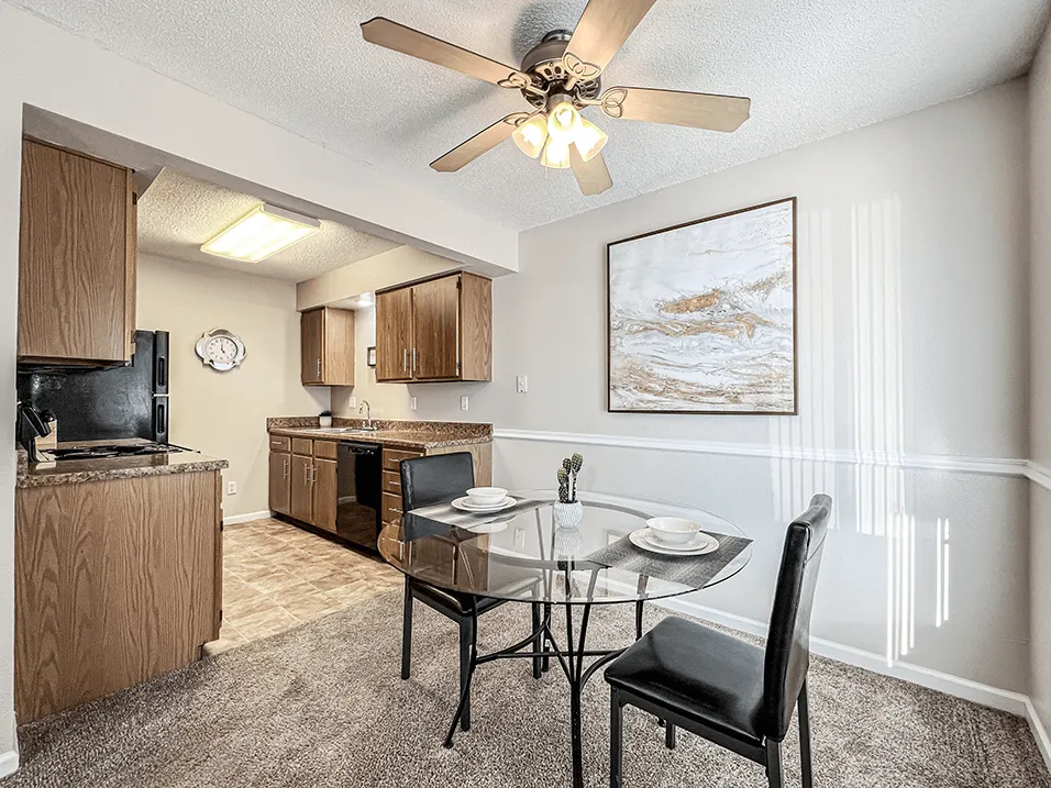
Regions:
<svg viewBox="0 0 1051 788"><path fill-rule="evenodd" d="M22 141L19 358L121 363L135 348L132 170Z"/></svg>

